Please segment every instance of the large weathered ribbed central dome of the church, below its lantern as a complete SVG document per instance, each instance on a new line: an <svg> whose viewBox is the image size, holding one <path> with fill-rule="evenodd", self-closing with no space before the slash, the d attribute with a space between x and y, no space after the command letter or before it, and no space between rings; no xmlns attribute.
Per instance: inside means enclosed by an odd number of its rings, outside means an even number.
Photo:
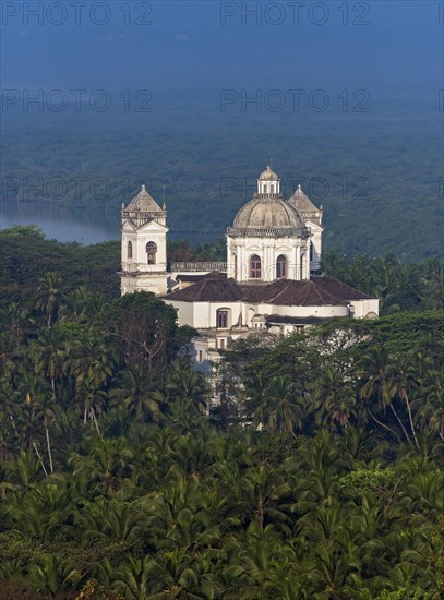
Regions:
<svg viewBox="0 0 444 600"><path fill-rule="evenodd" d="M283 199L253 197L235 217L233 229L298 229L299 213Z"/></svg>

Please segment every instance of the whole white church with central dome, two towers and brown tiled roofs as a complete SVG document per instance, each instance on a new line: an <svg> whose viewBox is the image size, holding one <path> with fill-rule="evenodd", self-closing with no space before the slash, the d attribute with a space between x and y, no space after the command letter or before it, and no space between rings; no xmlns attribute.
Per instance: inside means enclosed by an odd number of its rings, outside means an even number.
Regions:
<svg viewBox="0 0 444 600"><path fill-rule="evenodd" d="M334 316L377 317L377 298L322 274L322 217L300 185L286 200L267 167L227 229L227 262L168 263L165 203L142 185L122 205L122 295L152 291L171 304L178 324L199 332L192 358L203 374L253 331L286 335Z"/></svg>

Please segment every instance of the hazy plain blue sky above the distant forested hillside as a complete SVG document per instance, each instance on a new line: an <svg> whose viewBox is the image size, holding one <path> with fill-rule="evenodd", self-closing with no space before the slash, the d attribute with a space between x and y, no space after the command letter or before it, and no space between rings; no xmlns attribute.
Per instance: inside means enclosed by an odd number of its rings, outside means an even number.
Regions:
<svg viewBox="0 0 444 600"><path fill-rule="evenodd" d="M440 15L441 11L441 15ZM443 2L1 3L4 88L327 88L433 97Z"/></svg>

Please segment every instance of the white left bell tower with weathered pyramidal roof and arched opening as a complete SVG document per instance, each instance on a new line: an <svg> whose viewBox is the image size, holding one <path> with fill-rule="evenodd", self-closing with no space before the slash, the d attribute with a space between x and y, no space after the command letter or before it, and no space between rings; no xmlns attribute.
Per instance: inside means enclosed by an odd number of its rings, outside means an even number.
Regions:
<svg viewBox="0 0 444 600"><path fill-rule="evenodd" d="M145 185L125 207L122 204L121 292L167 293L167 211Z"/></svg>

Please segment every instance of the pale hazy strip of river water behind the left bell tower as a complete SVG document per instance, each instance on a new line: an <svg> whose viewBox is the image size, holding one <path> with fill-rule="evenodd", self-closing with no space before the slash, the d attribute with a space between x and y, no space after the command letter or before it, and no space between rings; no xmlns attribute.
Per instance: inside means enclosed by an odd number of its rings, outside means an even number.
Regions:
<svg viewBox="0 0 444 600"><path fill-rule="evenodd" d="M83 244L120 239L120 212L105 213L80 208L62 208L33 202L0 202L0 229L13 225L36 225L47 239ZM224 231L170 230L171 240L188 240L192 245L213 243Z"/></svg>

